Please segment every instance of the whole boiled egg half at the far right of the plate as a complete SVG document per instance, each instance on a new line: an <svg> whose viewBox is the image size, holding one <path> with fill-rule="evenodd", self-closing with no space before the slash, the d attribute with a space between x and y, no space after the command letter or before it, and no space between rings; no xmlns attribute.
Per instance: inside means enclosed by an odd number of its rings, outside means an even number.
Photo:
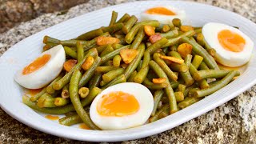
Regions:
<svg viewBox="0 0 256 144"><path fill-rule="evenodd" d="M254 42L241 30L210 22L202 27L206 42L216 50L216 60L224 66L237 67L249 62Z"/></svg>

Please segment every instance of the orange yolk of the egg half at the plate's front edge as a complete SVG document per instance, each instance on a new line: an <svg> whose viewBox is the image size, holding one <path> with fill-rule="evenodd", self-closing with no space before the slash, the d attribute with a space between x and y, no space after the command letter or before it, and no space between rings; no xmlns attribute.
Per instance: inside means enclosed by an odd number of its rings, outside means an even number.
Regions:
<svg viewBox="0 0 256 144"><path fill-rule="evenodd" d="M122 91L105 94L97 103L98 114L103 116L118 116L134 114L139 110L139 103L132 94Z"/></svg>

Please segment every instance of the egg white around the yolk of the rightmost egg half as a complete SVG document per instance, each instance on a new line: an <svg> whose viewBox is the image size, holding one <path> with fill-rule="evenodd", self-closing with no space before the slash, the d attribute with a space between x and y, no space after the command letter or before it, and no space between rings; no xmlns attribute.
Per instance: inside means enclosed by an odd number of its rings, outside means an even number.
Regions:
<svg viewBox="0 0 256 144"><path fill-rule="evenodd" d="M218 33L222 30L230 30L244 38L246 41L244 49L241 52L232 52L223 48L218 41ZM216 61L222 65L236 67L249 62L250 55L254 48L254 42L246 34L242 33L241 30L222 23L210 22L202 27L202 34L204 35L206 42L216 50Z"/></svg>

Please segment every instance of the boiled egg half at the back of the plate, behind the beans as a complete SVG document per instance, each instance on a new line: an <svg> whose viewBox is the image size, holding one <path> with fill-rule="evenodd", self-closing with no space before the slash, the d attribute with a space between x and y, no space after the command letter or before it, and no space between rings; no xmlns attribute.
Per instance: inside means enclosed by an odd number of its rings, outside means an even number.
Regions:
<svg viewBox="0 0 256 144"><path fill-rule="evenodd" d="M179 18L182 22L185 21L185 10L180 10L173 6L157 6L144 11L142 21L158 20L162 24L169 24L174 18Z"/></svg>

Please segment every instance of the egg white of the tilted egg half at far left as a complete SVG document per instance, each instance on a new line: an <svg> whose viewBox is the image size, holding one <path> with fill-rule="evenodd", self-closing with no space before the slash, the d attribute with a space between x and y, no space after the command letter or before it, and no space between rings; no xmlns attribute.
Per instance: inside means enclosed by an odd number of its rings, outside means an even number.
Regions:
<svg viewBox="0 0 256 144"><path fill-rule="evenodd" d="M30 74L22 74L22 70L18 70L14 79L18 84L27 89L39 89L46 86L58 76L62 71L63 64L66 60L66 54L62 45L54 46L50 50L46 50L38 57L44 54L50 54L50 60L44 66ZM32 61L34 62L34 60ZM31 62L26 64L28 66Z"/></svg>

